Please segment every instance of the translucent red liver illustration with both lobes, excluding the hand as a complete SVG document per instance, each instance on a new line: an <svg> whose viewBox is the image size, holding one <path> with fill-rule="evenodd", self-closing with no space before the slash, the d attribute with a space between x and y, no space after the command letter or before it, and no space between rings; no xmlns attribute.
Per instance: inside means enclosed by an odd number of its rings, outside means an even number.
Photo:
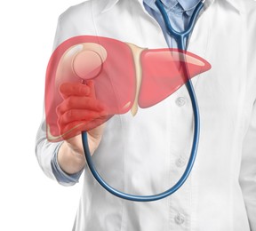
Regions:
<svg viewBox="0 0 256 231"><path fill-rule="evenodd" d="M184 74L184 65L188 75ZM182 68L183 67L183 68ZM77 126L60 134L56 108L63 100L62 83L83 83L92 79L96 97L108 109L108 119L138 107L153 107L180 86L211 68L204 59L177 49L140 48L135 44L101 36L75 36L52 53L46 70L45 115L47 139L68 139L81 132ZM83 124L86 131L86 124Z"/></svg>

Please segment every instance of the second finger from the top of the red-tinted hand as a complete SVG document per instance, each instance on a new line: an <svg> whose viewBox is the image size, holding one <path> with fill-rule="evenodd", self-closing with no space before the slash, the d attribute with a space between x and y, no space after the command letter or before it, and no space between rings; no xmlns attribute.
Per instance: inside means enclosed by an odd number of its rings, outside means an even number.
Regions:
<svg viewBox="0 0 256 231"><path fill-rule="evenodd" d="M104 104L99 100L92 99L91 97L78 97L70 96L68 99L63 100L60 105L56 108L58 116L63 115L66 111L71 109L84 109L92 111L107 111Z"/></svg>

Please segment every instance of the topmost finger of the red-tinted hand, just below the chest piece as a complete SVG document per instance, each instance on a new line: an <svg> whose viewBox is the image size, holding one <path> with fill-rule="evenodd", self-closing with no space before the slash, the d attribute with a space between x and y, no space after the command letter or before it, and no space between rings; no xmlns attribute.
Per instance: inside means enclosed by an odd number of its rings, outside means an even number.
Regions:
<svg viewBox="0 0 256 231"><path fill-rule="evenodd" d="M90 92L90 87L87 84L63 83L60 85L60 94L64 99L69 96L88 96Z"/></svg>

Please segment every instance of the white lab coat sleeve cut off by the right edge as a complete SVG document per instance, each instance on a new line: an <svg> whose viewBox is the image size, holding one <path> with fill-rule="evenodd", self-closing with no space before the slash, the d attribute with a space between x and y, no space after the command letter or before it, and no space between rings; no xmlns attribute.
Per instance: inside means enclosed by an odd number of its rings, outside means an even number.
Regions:
<svg viewBox="0 0 256 231"><path fill-rule="evenodd" d="M256 231L256 100L252 108L251 123L244 138L240 185L251 231Z"/></svg>

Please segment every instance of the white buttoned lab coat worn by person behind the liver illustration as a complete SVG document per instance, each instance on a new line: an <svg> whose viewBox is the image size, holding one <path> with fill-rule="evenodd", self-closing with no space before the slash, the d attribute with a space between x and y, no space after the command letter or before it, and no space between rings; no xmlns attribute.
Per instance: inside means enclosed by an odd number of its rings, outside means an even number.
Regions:
<svg viewBox="0 0 256 231"><path fill-rule="evenodd" d="M212 65L193 78L201 133L191 175L174 195L134 203L110 195L85 167L74 230L256 231L255 25L252 0L205 0L188 46ZM70 7L60 15L54 47L80 35L167 47L142 0L90 0ZM156 194L180 179L192 137L193 113L183 86L134 117L130 112L112 117L92 158L111 186ZM46 140L43 119L36 156L52 179L52 154L59 146Z"/></svg>

